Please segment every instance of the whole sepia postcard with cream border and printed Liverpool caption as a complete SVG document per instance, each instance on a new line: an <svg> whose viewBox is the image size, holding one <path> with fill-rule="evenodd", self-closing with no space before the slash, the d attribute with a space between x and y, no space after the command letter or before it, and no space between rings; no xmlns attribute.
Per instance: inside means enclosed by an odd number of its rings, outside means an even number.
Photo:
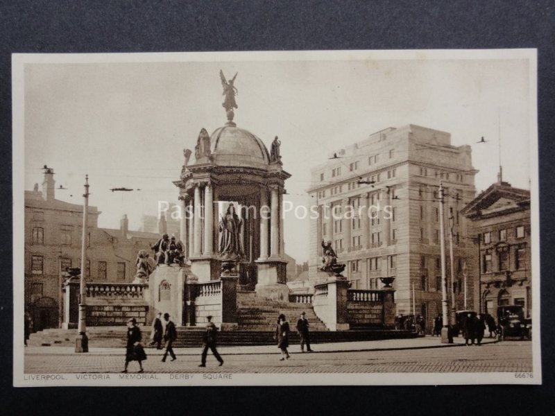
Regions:
<svg viewBox="0 0 555 416"><path fill-rule="evenodd" d="M12 55L15 386L540 384L535 49Z"/></svg>

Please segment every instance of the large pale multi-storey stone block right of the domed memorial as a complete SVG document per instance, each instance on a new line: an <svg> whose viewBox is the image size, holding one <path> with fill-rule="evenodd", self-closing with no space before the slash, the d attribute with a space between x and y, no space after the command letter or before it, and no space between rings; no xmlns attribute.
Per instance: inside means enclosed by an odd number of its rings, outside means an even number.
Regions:
<svg viewBox="0 0 555 416"><path fill-rule="evenodd" d="M345 275L352 288L381 288L380 277L395 277L397 313L414 309L431 324L441 312L438 187L442 181L447 277L452 217L454 307L463 309L463 274L475 270L476 252L460 211L475 197L476 173L470 146L452 146L449 133L417 125L387 128L337 150L311 170L314 186L309 195L320 215L311 220L309 279L316 279L321 266L321 241L332 241L339 261L347 265ZM354 215L346 214L353 211ZM466 279L468 307L474 278Z"/></svg>

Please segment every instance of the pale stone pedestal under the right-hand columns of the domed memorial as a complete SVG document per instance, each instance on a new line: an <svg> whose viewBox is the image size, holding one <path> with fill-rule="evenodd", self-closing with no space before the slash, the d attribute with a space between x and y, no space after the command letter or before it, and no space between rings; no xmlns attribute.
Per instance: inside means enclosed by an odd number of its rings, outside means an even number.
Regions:
<svg viewBox="0 0 555 416"><path fill-rule="evenodd" d="M257 261L258 282L255 286L257 295L271 300L288 302L286 261Z"/></svg>

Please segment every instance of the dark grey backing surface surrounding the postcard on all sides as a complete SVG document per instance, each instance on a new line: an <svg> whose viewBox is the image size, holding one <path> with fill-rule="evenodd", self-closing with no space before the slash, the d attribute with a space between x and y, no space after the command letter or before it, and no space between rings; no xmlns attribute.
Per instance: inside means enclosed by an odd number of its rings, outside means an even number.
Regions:
<svg viewBox="0 0 555 416"><path fill-rule="evenodd" d="M554 413L554 1L0 1L0 401L6 414ZM11 53L538 49L544 385L35 388L12 385ZM23 279L23 276L18 277ZM536 305L534 307L537 307ZM103 410L101 410L103 409Z"/></svg>

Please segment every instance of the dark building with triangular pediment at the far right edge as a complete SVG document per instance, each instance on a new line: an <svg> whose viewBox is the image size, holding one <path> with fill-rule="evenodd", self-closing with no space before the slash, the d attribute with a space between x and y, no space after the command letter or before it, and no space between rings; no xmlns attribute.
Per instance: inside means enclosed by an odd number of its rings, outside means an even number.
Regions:
<svg viewBox="0 0 555 416"><path fill-rule="evenodd" d="M462 211L479 239L481 311L497 316L497 306L532 311L530 191L496 182Z"/></svg>

